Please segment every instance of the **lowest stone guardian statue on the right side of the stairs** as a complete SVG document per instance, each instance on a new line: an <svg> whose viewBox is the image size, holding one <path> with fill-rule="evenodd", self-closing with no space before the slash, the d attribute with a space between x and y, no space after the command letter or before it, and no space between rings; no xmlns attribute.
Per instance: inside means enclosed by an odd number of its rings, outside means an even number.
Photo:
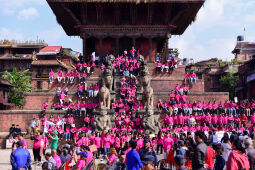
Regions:
<svg viewBox="0 0 255 170"><path fill-rule="evenodd" d="M158 134L160 130L159 116L153 114L153 107L147 108L147 115L143 118L143 128L150 130L153 134Z"/></svg>

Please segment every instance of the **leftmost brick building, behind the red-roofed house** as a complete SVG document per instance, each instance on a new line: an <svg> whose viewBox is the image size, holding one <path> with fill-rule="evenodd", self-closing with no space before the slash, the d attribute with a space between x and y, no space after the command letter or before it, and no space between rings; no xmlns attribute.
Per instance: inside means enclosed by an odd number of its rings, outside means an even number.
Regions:
<svg viewBox="0 0 255 170"><path fill-rule="evenodd" d="M31 69L35 54L46 46L43 41L22 43L0 41L0 72L12 71L14 67L19 70Z"/></svg>

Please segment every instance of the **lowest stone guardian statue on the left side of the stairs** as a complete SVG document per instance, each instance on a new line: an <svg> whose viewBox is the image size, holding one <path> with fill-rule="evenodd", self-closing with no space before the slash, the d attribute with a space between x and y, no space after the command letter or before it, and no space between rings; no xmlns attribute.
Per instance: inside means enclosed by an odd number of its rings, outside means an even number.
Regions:
<svg viewBox="0 0 255 170"><path fill-rule="evenodd" d="M107 108L101 108L99 115L95 117L95 127L100 131L112 128L111 117L107 115Z"/></svg>

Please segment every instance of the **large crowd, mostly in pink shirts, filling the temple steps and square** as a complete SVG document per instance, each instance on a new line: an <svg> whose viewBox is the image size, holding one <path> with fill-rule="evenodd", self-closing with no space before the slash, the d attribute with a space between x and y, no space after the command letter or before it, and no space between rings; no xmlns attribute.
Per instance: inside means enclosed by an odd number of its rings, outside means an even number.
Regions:
<svg viewBox="0 0 255 170"><path fill-rule="evenodd" d="M40 121L36 118L32 120L29 140L33 141L34 163L47 170L71 167L87 170L95 166L95 159L103 160L107 169L114 170L254 169L252 139L255 133L255 103L189 103L183 97L187 96L188 87L177 84L169 94L169 102L157 103L157 108L164 115L159 133L153 134L144 129L144 115L138 112L144 108L144 103L137 99L136 76L142 65L136 59L139 54L133 47L129 55L125 50L112 63L113 69L123 76L120 78L119 97L111 103L115 123L102 132L95 128L93 114L93 109L99 107L98 103L86 103L85 100L76 104L72 100L66 102L68 89L57 89L59 103L53 108L68 112L56 117L43 112ZM94 56L91 58L89 68ZM170 61L173 60L171 58ZM77 77L78 97L96 97L99 86L87 87L85 78L81 80L78 76L92 71L87 63L83 64L78 63L76 71L64 82L74 83ZM105 65L107 60L100 66L101 75ZM188 78L195 83L196 76L191 74ZM50 81L53 80L54 73L49 75ZM43 108L48 109L48 104L44 103ZM82 124L75 123L74 115L79 120L83 119ZM10 135L15 138L11 164L13 169L29 169L31 156L27 151L27 141L21 130L16 129L13 127L10 130ZM48 152L49 148L51 152Z"/></svg>

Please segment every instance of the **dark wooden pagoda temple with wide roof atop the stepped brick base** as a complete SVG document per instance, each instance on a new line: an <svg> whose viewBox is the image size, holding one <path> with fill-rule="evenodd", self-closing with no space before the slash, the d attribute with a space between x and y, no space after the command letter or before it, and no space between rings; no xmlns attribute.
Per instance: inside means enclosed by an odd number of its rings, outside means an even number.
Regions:
<svg viewBox="0 0 255 170"><path fill-rule="evenodd" d="M47 0L69 36L83 40L83 55L117 55L132 46L147 61L168 56L168 39L181 35L205 0Z"/></svg>

